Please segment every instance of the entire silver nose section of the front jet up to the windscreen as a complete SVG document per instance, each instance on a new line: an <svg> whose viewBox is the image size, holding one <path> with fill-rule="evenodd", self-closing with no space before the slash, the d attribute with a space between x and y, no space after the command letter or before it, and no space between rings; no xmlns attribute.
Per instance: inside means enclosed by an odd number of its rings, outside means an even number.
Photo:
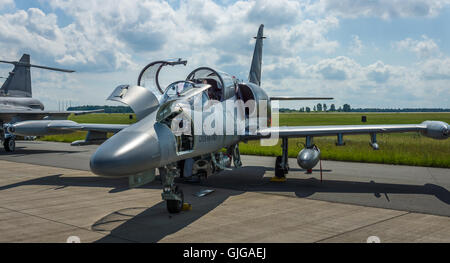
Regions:
<svg viewBox="0 0 450 263"><path fill-rule="evenodd" d="M177 161L172 131L153 113L117 133L92 155L91 171L103 177L127 177Z"/></svg>

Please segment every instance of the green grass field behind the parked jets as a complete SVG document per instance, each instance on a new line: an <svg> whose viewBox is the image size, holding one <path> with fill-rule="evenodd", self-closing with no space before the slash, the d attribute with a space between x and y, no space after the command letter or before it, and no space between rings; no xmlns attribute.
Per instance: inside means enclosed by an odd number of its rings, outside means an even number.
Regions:
<svg viewBox="0 0 450 263"><path fill-rule="evenodd" d="M440 120L450 123L450 113L291 113L280 115L280 126L301 125L351 125L361 124L361 116L368 117L367 124L418 124L426 120ZM73 116L71 120L80 123L130 124L127 114L92 114ZM84 132L69 135L48 136L43 140L73 142L84 139ZM450 168L450 140L438 141L417 133L379 134L380 150L369 146L369 135L347 136L346 146L337 147L335 137L315 138L322 150L324 160L384 163L412 166ZM303 148L304 139L289 140L289 155L297 157ZM259 141L241 144L241 153L249 155L281 155L280 144L275 147L261 147Z"/></svg>

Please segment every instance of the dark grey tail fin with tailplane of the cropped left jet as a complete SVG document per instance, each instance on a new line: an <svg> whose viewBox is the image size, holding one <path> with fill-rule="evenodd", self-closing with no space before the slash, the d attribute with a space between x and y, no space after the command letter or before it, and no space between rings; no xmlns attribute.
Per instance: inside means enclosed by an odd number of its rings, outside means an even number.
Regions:
<svg viewBox="0 0 450 263"><path fill-rule="evenodd" d="M62 72L74 72L73 70L50 68L44 66L37 66L30 64L30 55L24 54L19 61L4 61L0 60L0 63L13 64L14 69L9 73L9 77L3 83L0 88L0 96L8 97L31 97L31 74L30 68L41 68Z"/></svg>

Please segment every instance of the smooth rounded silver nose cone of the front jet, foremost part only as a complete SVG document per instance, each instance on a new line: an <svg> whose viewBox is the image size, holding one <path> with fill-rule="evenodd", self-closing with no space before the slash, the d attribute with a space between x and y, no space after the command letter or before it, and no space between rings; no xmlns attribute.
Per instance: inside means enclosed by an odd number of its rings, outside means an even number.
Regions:
<svg viewBox="0 0 450 263"><path fill-rule="evenodd" d="M156 133L124 130L102 144L91 157L91 171L105 177L138 174L158 167Z"/></svg>

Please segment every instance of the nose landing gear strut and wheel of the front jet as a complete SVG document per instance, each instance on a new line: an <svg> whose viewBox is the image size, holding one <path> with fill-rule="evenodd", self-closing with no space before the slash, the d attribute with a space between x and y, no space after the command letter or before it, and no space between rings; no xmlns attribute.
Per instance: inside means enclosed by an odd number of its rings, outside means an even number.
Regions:
<svg viewBox="0 0 450 263"><path fill-rule="evenodd" d="M183 191L175 185L177 176L177 167L164 167L159 169L161 181L163 184L162 198L167 203L167 211L171 214L178 214L183 210L184 194Z"/></svg>

